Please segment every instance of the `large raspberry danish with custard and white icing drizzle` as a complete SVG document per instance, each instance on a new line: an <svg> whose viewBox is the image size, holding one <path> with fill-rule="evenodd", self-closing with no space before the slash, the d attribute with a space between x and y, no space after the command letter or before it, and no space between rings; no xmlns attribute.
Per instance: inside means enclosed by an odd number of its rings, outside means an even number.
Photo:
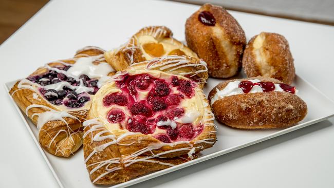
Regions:
<svg viewBox="0 0 334 188"><path fill-rule="evenodd" d="M180 62L174 60L175 66L181 68ZM203 91L181 71L159 70L165 63L161 58L133 64L96 93L83 144L92 183L121 183L162 170L215 143L214 116ZM184 71L195 73L192 67Z"/></svg>

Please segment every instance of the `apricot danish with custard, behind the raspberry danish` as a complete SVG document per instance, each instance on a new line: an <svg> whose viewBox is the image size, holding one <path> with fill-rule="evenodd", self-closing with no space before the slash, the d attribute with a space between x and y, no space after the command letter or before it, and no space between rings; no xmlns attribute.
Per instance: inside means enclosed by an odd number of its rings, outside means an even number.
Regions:
<svg viewBox="0 0 334 188"><path fill-rule="evenodd" d="M104 54L106 61L117 71L125 70L133 63L165 55L188 55L197 58L197 54L174 39L172 31L165 26L144 27L126 44Z"/></svg>

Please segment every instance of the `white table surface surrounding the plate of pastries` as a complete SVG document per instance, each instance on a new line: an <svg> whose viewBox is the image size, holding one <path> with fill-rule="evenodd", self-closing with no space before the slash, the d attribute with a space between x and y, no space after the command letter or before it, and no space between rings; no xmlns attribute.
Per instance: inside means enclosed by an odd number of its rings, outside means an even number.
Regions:
<svg viewBox="0 0 334 188"><path fill-rule="evenodd" d="M86 45L112 49L147 25L166 25L182 41L185 19L197 9L161 1L51 1L0 46L1 81L26 77L44 63L70 58ZM231 14L248 39L261 31L285 35L299 76L334 100L334 27ZM0 187L58 187L4 87L0 88ZM331 118L134 187L333 187L333 123Z"/></svg>

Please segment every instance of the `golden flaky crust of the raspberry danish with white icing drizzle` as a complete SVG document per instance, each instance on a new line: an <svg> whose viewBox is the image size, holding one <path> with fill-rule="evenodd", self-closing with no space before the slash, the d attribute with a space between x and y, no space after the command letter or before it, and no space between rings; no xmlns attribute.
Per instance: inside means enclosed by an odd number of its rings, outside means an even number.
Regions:
<svg viewBox="0 0 334 188"><path fill-rule="evenodd" d="M136 68L139 67L128 67L126 71L116 74L115 80L122 80L118 77L124 74L137 75L141 72L150 75L169 75L169 73L158 70ZM178 77L188 80L182 76ZM87 117L90 120L84 123L84 156L90 179L94 184L121 183L139 175L183 163L187 161L184 160L184 155L193 158L193 154L212 147L216 141L214 117L206 96L199 86L195 88L195 96L199 97L198 102L203 106L204 112L200 119L203 129L197 137L190 141L172 143L163 143L151 134L133 133L120 128L120 125L118 128L107 128L104 123L107 122L103 115L104 110L100 106L103 105L101 100L104 99L104 96L113 92L119 92L115 90L115 82L104 85L98 91ZM101 137L106 139L101 140ZM106 160L109 161L105 162Z"/></svg>

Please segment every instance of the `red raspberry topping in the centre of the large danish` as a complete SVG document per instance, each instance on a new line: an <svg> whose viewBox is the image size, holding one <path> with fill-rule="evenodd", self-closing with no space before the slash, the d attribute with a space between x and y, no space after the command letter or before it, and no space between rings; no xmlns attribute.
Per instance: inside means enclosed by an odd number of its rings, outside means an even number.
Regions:
<svg viewBox="0 0 334 188"><path fill-rule="evenodd" d="M179 140L191 140L203 129L201 125L182 124L175 119L184 116L182 100L194 96L194 83L178 77L159 79L150 74L126 74L116 85L121 92L110 93L103 98L105 107L126 106L130 117L125 117L119 109L110 109L107 120L110 123L120 123L120 128L142 134L153 134L156 128L164 129L165 134L155 135L161 142L170 143ZM178 91L178 93L175 93ZM141 92L148 93L141 96ZM174 121L176 128L170 125L158 126L158 122Z"/></svg>

